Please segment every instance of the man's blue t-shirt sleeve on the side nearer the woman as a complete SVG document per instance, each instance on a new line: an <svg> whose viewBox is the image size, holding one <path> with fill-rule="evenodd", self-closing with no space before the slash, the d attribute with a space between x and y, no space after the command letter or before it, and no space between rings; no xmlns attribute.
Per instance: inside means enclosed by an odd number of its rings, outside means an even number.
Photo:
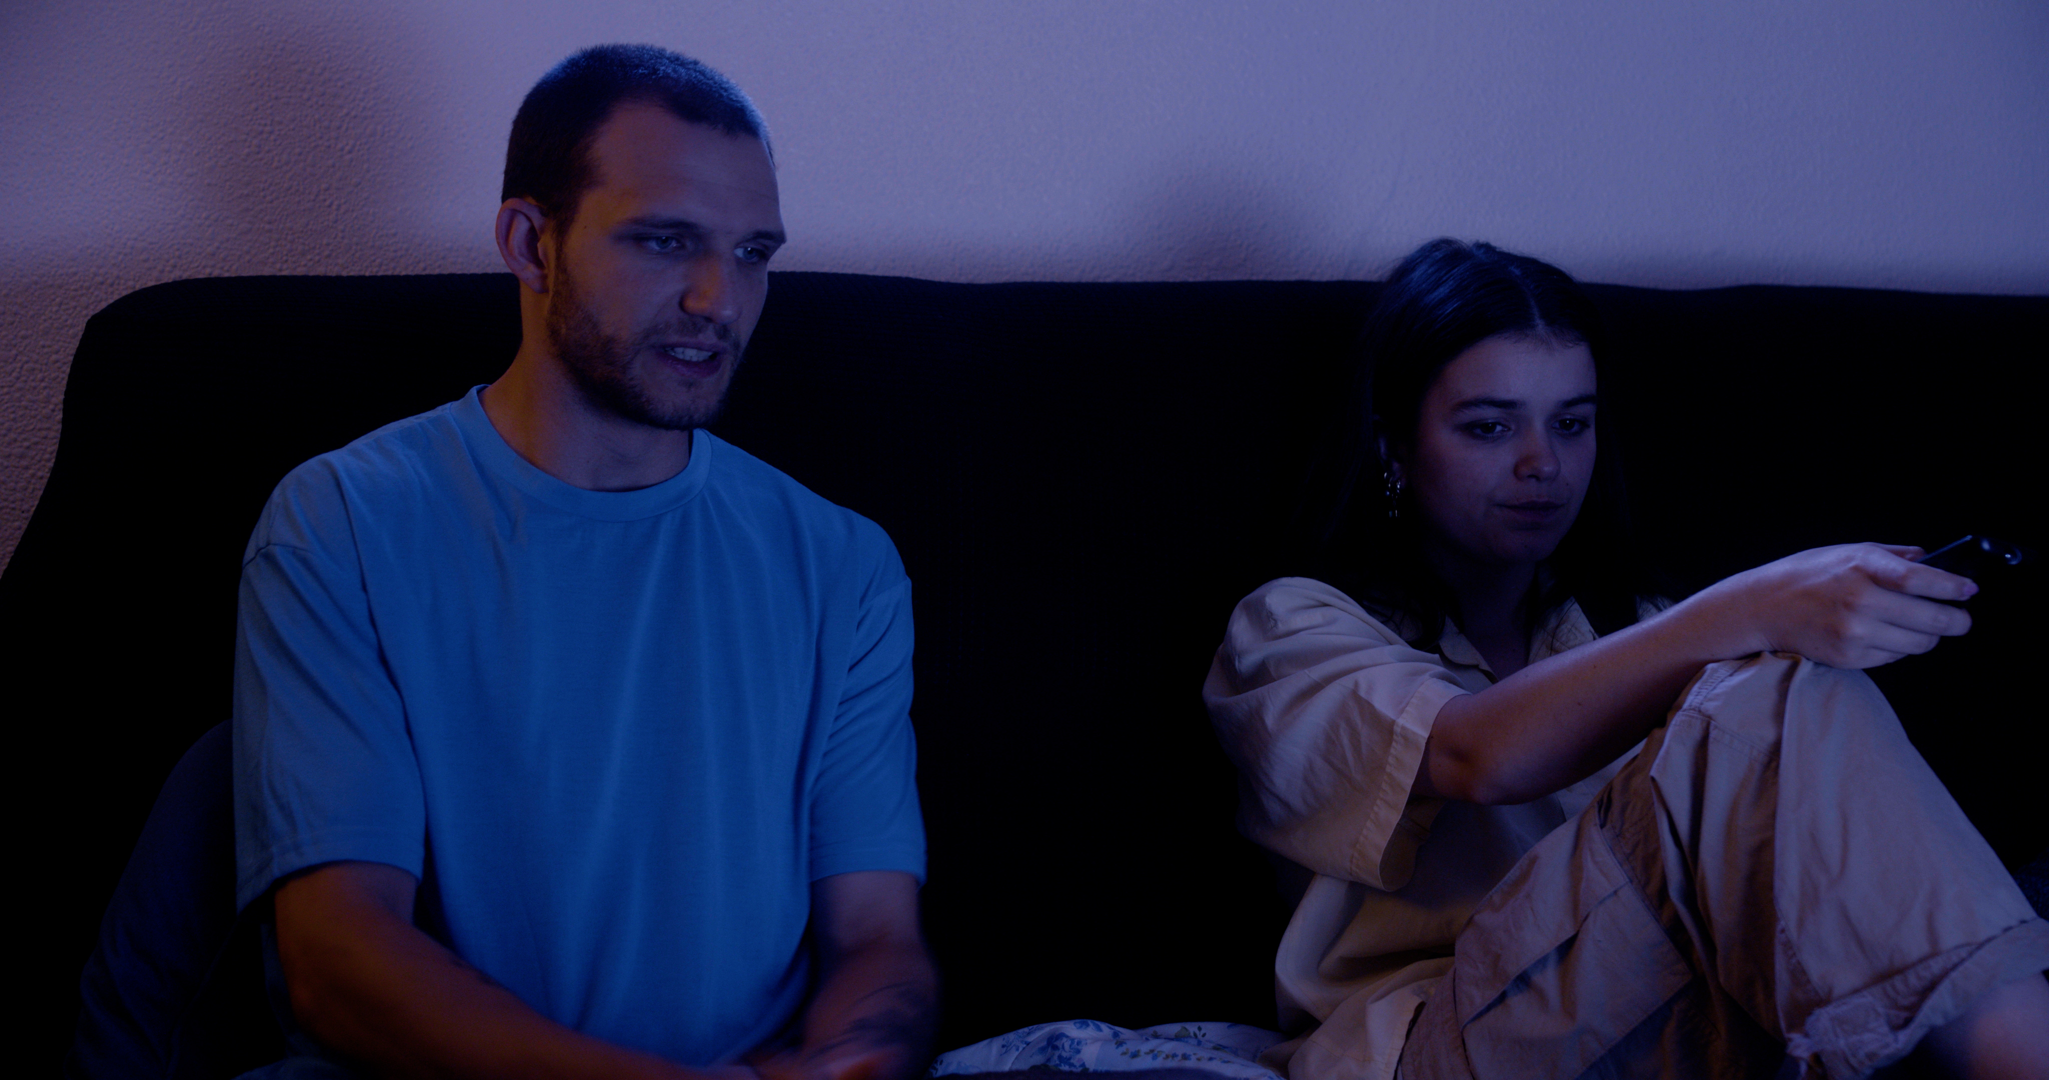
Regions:
<svg viewBox="0 0 2049 1080"><path fill-rule="evenodd" d="M813 881L852 871L904 871L924 881L910 725L910 580L895 549L881 543L887 557L863 590L846 682L813 787Z"/></svg>

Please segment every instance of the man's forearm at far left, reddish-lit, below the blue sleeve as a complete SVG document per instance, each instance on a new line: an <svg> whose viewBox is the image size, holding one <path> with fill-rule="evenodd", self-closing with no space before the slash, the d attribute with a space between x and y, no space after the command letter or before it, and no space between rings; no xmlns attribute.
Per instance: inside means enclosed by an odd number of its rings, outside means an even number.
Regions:
<svg viewBox="0 0 2049 1080"><path fill-rule="evenodd" d="M379 1076L705 1076L541 1016L412 924L414 887L375 863L332 863L279 885L293 1014L330 1049Z"/></svg>

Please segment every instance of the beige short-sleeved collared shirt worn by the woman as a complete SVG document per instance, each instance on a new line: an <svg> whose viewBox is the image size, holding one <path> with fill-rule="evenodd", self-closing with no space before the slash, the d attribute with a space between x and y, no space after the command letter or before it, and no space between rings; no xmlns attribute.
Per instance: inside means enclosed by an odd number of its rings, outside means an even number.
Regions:
<svg viewBox="0 0 2049 1080"><path fill-rule="evenodd" d="M1567 603L1531 662L1594 639ZM1262 1057L1293 1080L1393 1076L1410 1019L1451 969L1451 945L1524 850L1574 818L1621 769L1520 805L1414 797L1438 707L1494 684L1479 650L1445 627L1410 648L1344 592L1266 582L1231 613L1203 701L1240 773L1240 828L1305 867L1274 990L1281 1025L1313 1025Z"/></svg>

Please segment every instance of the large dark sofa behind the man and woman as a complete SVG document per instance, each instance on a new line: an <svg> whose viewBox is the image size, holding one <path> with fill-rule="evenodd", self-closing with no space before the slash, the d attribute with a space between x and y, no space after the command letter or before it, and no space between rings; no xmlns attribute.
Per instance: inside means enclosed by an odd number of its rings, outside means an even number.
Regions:
<svg viewBox="0 0 2049 1080"><path fill-rule="evenodd" d="M1072 1016L1272 1025L1285 910L1231 828L1197 689L1231 603L1289 572L1281 525L1373 291L775 275L717 430L881 523L916 582L945 1045ZM2049 297L1594 297L1613 332L1602 451L1625 455L1674 590L1848 539L2041 545ZM164 777L227 715L238 562L270 486L490 381L516 334L508 275L178 281L88 324L55 471L0 578L31 1068L72 1039ZM2043 707L2020 691L2039 582L2039 564L1988 582L1967 639L1875 672L2016 869L2049 844ZM186 809L217 822L219 760L193 769L205 805ZM131 906L225 937L229 885L207 869L223 842L168 828ZM211 875L189 908L152 891L180 867ZM195 1031L182 1074L273 1045L236 1035L262 1014L242 934L211 973L162 973L168 998L211 980L174 1008Z"/></svg>

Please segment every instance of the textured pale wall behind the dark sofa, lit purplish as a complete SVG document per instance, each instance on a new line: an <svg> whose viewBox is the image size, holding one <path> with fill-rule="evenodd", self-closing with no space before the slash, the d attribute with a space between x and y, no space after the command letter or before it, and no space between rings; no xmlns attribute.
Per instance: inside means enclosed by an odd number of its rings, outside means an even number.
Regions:
<svg viewBox="0 0 2049 1080"><path fill-rule="evenodd" d="M0 0L0 562L94 309L498 268L512 111L600 41L756 96L791 268L2049 291L2037 0Z"/></svg>

